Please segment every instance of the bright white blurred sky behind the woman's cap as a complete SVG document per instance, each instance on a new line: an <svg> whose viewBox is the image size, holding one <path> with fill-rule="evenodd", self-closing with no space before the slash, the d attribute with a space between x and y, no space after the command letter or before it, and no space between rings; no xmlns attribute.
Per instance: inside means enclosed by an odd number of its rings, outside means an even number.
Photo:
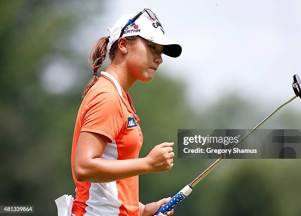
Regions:
<svg viewBox="0 0 301 216"><path fill-rule="evenodd" d="M233 91L261 105L277 106L294 96L292 77L301 74L300 0L176 2L111 0L106 14L83 26L76 38L82 44L78 49L88 53L121 15L147 7L183 50L176 59L163 56L158 72L183 79L195 106ZM291 106L301 106L296 104Z"/></svg>

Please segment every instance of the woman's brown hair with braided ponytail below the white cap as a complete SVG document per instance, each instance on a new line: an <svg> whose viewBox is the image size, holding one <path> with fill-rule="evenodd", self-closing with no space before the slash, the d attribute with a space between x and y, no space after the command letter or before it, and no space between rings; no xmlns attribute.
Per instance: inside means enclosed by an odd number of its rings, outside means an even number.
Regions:
<svg viewBox="0 0 301 216"><path fill-rule="evenodd" d="M126 37L126 40L130 44L134 44L138 38L139 38L139 36L128 36L128 37ZM89 56L89 62L90 62L90 65L91 65L90 66L91 71L93 72L93 77L90 79L88 85L84 89L84 92L83 92L83 95L82 95L83 98L86 96L86 94L88 93L90 88L98 80L97 71L102 66L102 62L106 58L108 43L109 43L109 37L108 36L107 37L101 37L96 41L94 46L91 48L90 56ZM112 44L112 46L110 48L109 58L112 61L115 58L115 55L116 55L116 52L117 52L117 44L118 44L118 40L114 41L114 43Z"/></svg>

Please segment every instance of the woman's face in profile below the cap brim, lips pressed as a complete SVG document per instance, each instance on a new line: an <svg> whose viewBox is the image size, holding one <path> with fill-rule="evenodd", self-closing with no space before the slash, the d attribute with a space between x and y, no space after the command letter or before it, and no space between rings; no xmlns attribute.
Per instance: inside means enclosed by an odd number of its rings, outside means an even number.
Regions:
<svg viewBox="0 0 301 216"><path fill-rule="evenodd" d="M139 37L133 45L127 46L126 66L136 80L150 82L163 62L163 45Z"/></svg>

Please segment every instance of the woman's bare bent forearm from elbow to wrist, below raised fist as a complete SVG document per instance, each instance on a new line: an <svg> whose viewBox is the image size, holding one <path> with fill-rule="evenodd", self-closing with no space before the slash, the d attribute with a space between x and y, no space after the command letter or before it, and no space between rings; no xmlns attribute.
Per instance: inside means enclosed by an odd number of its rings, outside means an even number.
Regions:
<svg viewBox="0 0 301 216"><path fill-rule="evenodd" d="M146 158L128 160L107 160L93 158L81 167L78 175L79 181L109 182L149 173Z"/></svg>

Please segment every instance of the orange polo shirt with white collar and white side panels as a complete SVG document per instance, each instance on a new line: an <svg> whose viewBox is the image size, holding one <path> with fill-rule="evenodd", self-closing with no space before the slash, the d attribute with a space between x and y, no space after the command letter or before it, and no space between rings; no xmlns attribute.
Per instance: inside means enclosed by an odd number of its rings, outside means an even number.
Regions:
<svg viewBox="0 0 301 216"><path fill-rule="evenodd" d="M72 176L76 184L72 212L76 216L139 216L138 176L105 183L76 180L74 156L82 131L110 139L101 158L125 160L139 156L143 143L139 118L129 94L125 94L109 73L101 72L78 111L71 153Z"/></svg>

